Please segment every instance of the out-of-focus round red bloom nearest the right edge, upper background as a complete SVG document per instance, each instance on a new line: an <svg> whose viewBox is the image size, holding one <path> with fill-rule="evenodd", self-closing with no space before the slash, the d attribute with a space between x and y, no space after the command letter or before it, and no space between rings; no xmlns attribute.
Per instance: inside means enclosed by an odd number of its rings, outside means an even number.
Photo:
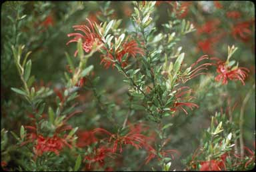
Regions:
<svg viewBox="0 0 256 172"><path fill-rule="evenodd" d="M251 36L251 29L249 28L252 21L244 21L237 23L232 27L231 34L235 39L241 39L242 41L248 41Z"/></svg>

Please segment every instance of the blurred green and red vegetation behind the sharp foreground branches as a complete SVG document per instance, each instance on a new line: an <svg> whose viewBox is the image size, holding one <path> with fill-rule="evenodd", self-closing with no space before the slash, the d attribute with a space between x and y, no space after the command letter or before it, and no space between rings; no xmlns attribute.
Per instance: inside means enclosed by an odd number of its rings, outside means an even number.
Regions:
<svg viewBox="0 0 256 172"><path fill-rule="evenodd" d="M191 64L205 54L225 60L227 45L235 45L239 49L232 58L239 61L240 67L247 67L250 73L245 86L234 81L221 86L221 83L214 81L214 68L209 70L207 77L201 76L189 81L191 88L195 91L197 97L195 103L199 108L191 111L189 115L180 113L168 119L173 123L168 131L171 137L168 147L177 149L181 153L181 156L177 156L172 163L172 168L177 170L184 169L181 159L185 159L197 149L201 133L203 129L209 127L211 116L216 111L221 109L225 111L237 103L232 115L236 120L237 129L239 128L239 114L247 93L250 93L250 97L245 105L243 126L245 145L253 149L255 141L255 89L253 89L255 85L255 7L250 1L216 2L181 2L184 12L180 17L191 21L197 31L183 37L176 46L183 47L185 63ZM111 17L104 14L103 9L109 9L109 11L113 9ZM163 24L172 19L169 15L172 9L169 2L157 2L153 20L158 31L166 29ZM69 41L67 34L73 32L72 26L85 24L86 18L97 23L110 19L122 19L120 28L129 30L133 29L132 12L133 5L129 1L7 1L3 3L1 5L1 129L19 133L21 125L27 124L29 118L21 98L11 91L11 87L21 86L11 45L26 45L25 52L32 51L32 75L36 77L37 87L48 86L51 89L61 89L64 86L63 74L67 71L65 53L73 55L76 49L75 44L66 45ZM13 21L17 15L21 18L25 17L20 21ZM243 22L249 24L243 24ZM235 34L235 29L240 29L242 33L237 31ZM96 87L104 94L106 103L113 102L115 105L113 108L119 112L117 122L121 123L126 112L123 107L127 106L127 85L123 83L123 76L117 70L111 67L105 69L100 65L100 61L101 58L97 53L89 59L89 64L94 65L95 77L99 76L99 84ZM69 123L78 126L81 130L109 127L103 117L105 112L99 108L92 91L81 90L79 94L77 101L83 113L73 117ZM48 103L54 103L51 97L48 101ZM141 121L141 115L143 113L136 111L130 117L130 122ZM147 122L147 125L151 124ZM11 137L9 139L9 145L11 145L14 140ZM154 165L153 163L156 163L151 161L149 165L141 165L143 161L137 157L145 157L146 153L141 154L136 151L131 153L129 150L126 150L123 155L125 153L129 154L129 157L122 157L120 160L122 165L118 170L133 170L135 167L141 167L136 170L148 170ZM12 151L9 151L8 155L2 155L2 159L15 165L15 160L11 157L13 157Z"/></svg>

